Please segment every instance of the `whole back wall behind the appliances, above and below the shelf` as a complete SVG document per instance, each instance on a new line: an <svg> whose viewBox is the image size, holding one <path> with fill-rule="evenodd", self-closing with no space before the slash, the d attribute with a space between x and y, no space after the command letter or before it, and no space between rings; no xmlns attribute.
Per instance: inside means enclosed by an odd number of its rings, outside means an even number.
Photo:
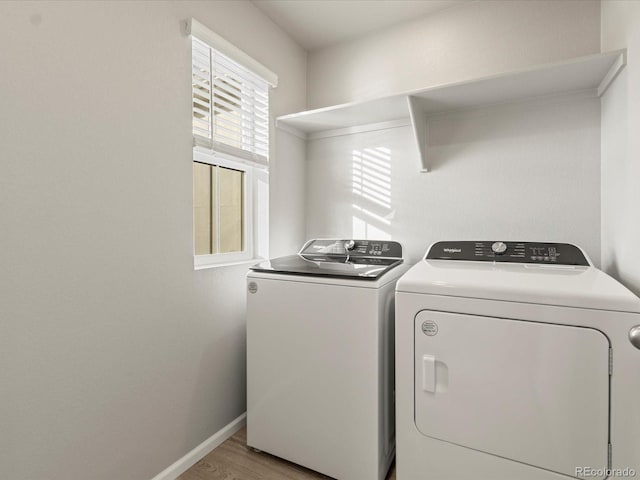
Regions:
<svg viewBox="0 0 640 480"><path fill-rule="evenodd" d="M600 5L481 1L309 54L310 107L597 53ZM442 239L578 243L600 261L600 102L573 95L432 117L419 173L408 127L308 145L307 234L391 237L411 261ZM388 206L358 193L361 155Z"/></svg>

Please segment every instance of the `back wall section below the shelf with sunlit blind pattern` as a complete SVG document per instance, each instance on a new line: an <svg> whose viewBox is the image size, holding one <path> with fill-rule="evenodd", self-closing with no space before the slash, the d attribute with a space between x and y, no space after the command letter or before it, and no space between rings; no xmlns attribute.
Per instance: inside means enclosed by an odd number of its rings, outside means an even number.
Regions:
<svg viewBox="0 0 640 480"><path fill-rule="evenodd" d="M311 141L309 237L390 238L410 262L438 240L559 241L599 263L596 97L433 117L429 173L419 173L412 135L401 127ZM369 197L357 193L360 168L378 180Z"/></svg>

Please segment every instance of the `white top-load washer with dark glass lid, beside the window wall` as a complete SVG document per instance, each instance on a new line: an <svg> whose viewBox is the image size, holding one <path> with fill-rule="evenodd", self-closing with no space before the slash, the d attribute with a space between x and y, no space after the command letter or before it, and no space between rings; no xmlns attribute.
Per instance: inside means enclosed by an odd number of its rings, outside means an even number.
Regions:
<svg viewBox="0 0 640 480"><path fill-rule="evenodd" d="M340 480L394 455L397 242L311 240L247 275L247 444Z"/></svg>

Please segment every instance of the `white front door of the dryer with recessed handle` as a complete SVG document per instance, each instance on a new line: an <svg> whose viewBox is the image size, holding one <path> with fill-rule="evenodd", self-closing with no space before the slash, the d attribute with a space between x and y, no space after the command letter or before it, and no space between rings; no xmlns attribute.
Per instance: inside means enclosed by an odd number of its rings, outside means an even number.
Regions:
<svg viewBox="0 0 640 480"><path fill-rule="evenodd" d="M424 435L571 477L608 468L600 331L423 310L414 371Z"/></svg>

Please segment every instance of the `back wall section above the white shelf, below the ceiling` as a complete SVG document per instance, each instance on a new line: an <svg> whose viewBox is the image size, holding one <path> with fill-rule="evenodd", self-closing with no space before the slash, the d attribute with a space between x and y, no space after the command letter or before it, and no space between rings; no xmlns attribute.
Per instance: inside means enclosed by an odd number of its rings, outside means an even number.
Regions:
<svg viewBox="0 0 640 480"><path fill-rule="evenodd" d="M482 0L309 54L308 107L599 51L600 2Z"/></svg>

